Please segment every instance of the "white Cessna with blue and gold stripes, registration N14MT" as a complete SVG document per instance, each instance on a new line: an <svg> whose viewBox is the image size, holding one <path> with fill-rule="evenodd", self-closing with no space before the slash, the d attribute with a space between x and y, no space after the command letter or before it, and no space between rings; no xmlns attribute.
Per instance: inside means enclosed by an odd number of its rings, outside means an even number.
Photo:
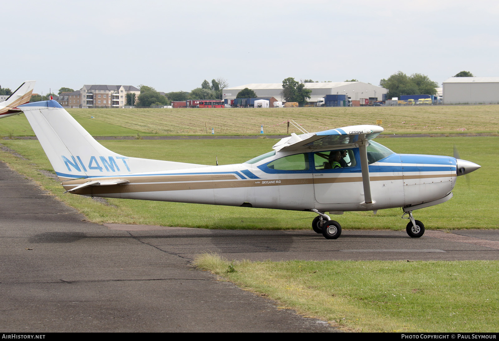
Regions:
<svg viewBox="0 0 499 341"><path fill-rule="evenodd" d="M56 101L19 106L66 192L113 198L313 211L312 227L341 234L325 214L402 207L407 233L421 237L412 211L449 200L458 175L480 168L448 156L396 154L372 141L383 128L351 126L281 139L239 165L129 158L95 141Z"/></svg>

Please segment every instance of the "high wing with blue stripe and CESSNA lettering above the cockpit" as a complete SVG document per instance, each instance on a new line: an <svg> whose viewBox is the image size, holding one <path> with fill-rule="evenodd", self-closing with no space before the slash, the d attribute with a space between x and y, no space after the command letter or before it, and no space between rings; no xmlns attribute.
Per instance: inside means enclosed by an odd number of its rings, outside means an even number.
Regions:
<svg viewBox="0 0 499 341"><path fill-rule="evenodd" d="M276 151L296 151L300 149L337 148L362 143L374 139L383 128L371 125L349 126L325 130L318 133L296 135L283 138L272 148Z"/></svg>

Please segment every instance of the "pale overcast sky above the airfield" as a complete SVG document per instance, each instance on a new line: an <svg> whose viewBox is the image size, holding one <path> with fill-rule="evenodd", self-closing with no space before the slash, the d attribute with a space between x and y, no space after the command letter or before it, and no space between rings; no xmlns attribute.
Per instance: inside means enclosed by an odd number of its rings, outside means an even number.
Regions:
<svg viewBox="0 0 499 341"><path fill-rule="evenodd" d="M191 91L284 78L499 76L495 1L4 1L0 85ZM55 90L55 91L54 91Z"/></svg>

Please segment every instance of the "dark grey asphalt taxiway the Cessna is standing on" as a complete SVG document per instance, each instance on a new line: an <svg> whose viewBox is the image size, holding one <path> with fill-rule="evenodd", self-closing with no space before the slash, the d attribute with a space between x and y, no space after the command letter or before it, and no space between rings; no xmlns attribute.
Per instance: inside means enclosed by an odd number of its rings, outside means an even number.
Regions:
<svg viewBox="0 0 499 341"><path fill-rule="evenodd" d="M499 231L207 230L98 225L0 162L1 332L334 332L191 267L250 260L499 259Z"/></svg>

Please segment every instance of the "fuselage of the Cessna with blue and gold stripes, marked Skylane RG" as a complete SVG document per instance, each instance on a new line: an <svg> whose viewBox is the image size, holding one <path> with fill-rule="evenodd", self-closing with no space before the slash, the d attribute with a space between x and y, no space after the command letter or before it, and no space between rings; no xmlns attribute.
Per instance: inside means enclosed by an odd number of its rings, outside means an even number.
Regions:
<svg viewBox="0 0 499 341"><path fill-rule="evenodd" d="M258 162L203 168L122 173L132 166L126 159L76 158L66 163L68 171L83 167L116 171L116 176L69 179L59 174L66 190L89 180L125 179L126 185L90 186L75 194L128 199L249 206L288 210L364 211L420 204L448 195L456 183L456 159L447 156L391 154L369 165L373 203L364 202L358 148L350 150L351 163L324 169L313 151L277 152ZM334 152L334 151L333 151ZM305 155L304 155L305 154ZM272 166L284 157L299 159L296 165ZM301 165L301 159L303 162ZM111 161L110 161L111 160ZM285 160L285 159L284 159ZM132 168L133 169L133 168Z"/></svg>

